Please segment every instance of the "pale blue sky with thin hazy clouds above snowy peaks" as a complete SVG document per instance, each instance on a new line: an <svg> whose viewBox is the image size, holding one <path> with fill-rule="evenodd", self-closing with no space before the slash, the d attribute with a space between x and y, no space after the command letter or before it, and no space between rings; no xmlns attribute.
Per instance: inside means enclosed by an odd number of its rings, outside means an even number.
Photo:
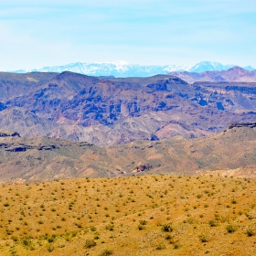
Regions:
<svg viewBox="0 0 256 256"><path fill-rule="evenodd" d="M0 70L121 59L256 68L255 0L0 1Z"/></svg>

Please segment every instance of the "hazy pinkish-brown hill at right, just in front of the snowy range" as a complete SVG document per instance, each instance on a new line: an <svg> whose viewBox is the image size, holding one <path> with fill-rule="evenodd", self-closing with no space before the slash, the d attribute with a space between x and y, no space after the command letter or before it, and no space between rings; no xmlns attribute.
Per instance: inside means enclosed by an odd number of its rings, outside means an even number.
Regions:
<svg viewBox="0 0 256 256"><path fill-rule="evenodd" d="M233 67L222 71L205 71L201 73L196 72L171 72L170 75L176 76L188 83L196 81L211 81L211 82L256 82L256 70L248 71L240 67Z"/></svg>

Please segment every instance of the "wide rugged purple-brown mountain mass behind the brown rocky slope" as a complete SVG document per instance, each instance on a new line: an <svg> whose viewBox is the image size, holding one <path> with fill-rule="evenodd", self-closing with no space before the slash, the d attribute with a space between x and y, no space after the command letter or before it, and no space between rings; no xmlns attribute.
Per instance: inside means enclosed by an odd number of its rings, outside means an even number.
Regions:
<svg viewBox="0 0 256 256"><path fill-rule="evenodd" d="M0 73L0 87L0 127L22 136L122 144L206 136L256 118L256 83L63 72Z"/></svg>

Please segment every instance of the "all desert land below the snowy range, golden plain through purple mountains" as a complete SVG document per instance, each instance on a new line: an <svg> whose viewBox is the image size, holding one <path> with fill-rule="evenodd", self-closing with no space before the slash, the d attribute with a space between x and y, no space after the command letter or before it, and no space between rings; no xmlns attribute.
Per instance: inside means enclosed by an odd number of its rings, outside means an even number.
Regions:
<svg viewBox="0 0 256 256"><path fill-rule="evenodd" d="M255 86L0 72L1 255L253 255Z"/></svg>

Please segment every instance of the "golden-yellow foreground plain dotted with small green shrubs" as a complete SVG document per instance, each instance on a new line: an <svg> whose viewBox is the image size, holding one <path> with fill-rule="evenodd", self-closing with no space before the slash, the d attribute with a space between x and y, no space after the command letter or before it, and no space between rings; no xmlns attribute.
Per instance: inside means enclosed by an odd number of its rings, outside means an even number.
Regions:
<svg viewBox="0 0 256 256"><path fill-rule="evenodd" d="M255 180L66 179L0 187L1 255L255 255Z"/></svg>

